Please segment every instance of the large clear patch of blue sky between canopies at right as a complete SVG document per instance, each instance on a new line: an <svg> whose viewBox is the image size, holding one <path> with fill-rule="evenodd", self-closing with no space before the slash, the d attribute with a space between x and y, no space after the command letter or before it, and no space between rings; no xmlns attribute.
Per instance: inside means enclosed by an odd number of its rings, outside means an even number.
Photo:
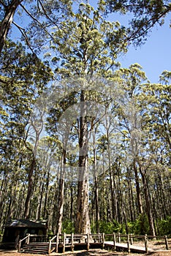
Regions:
<svg viewBox="0 0 171 256"><path fill-rule="evenodd" d="M159 75L164 70L171 71L171 15L164 20L163 26L153 27L145 45L141 45L137 50L133 46L130 47L128 53L119 59L122 67L140 64L151 83L158 83Z"/></svg>

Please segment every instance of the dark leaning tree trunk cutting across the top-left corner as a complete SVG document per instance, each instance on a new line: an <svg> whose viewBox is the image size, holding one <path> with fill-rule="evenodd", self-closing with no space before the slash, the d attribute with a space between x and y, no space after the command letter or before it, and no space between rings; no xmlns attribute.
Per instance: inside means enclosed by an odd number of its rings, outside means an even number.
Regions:
<svg viewBox="0 0 171 256"><path fill-rule="evenodd" d="M4 19L1 21L1 26L0 26L0 53L1 50L4 46L4 42L7 38L8 31L10 29L13 17L15 15L15 11L18 8L19 4L23 0L13 0L11 4L8 6L4 7L5 8L5 15Z"/></svg>

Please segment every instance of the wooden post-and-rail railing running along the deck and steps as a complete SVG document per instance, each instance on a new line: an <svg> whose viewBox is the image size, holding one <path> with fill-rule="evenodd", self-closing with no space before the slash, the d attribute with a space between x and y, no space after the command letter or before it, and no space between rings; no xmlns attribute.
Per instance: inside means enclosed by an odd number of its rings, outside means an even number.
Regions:
<svg viewBox="0 0 171 256"><path fill-rule="evenodd" d="M18 242L18 250L20 250L21 243L23 241L26 241L26 244L29 244L30 241L35 238L39 239L47 239L47 236L38 236L38 235L30 235L28 234L25 238L21 239ZM58 252L58 246L62 247L62 251L65 252L65 248L69 246L73 252L74 246L76 244L86 244L87 250L90 247L90 243L99 243L101 244L102 248L104 248L105 243L107 244L107 241L113 241L113 249L116 249L116 244L127 244L127 250L130 252L130 245L134 244L135 241L144 241L144 246L145 246L145 252L148 253L148 241L151 239L164 239L164 244L165 248L168 250L168 239L167 236L137 236L137 235L132 235L132 234L121 234L121 233L113 233L113 234L104 234L104 233L98 233L98 234L56 234L56 236L53 236L51 239L48 239L48 253L50 254L54 250ZM36 241L35 240L35 241ZM31 242L32 242L31 241ZM35 242L34 241L34 242ZM53 249L52 249L52 243L53 243ZM54 246L54 243L56 243L56 246ZM118 245L117 245L118 246Z"/></svg>

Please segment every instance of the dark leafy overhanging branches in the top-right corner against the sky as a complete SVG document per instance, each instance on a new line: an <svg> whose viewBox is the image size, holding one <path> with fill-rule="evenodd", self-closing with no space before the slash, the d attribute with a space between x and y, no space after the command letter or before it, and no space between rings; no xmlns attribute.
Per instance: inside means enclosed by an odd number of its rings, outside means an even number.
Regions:
<svg viewBox="0 0 171 256"><path fill-rule="evenodd" d="M147 39L148 33L156 23L161 26L164 23L165 15L171 11L170 1L168 0L102 0L106 12L128 13L129 19L129 41L134 45L140 45ZM133 14L133 15L132 15Z"/></svg>

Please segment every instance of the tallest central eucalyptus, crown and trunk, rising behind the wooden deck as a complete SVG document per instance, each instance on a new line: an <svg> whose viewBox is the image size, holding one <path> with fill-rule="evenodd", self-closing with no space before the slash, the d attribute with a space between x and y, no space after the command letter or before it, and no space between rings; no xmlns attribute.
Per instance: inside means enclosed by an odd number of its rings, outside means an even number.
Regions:
<svg viewBox="0 0 171 256"><path fill-rule="evenodd" d="M89 4L80 4L74 17L63 23L62 29L54 29L52 50L56 51L53 63L61 60L61 67L56 68L58 78L83 79L93 75L104 78L112 74L117 64L118 54L126 51L125 31L118 22L110 23L99 15ZM77 83L80 83L77 80ZM87 80L86 80L87 83ZM71 83L70 86L73 86ZM73 88L73 91L75 88ZM87 102L91 91L77 91L80 99L80 113L77 118L79 144L79 174L77 183L77 218L75 232L89 233L88 216L88 119Z"/></svg>

